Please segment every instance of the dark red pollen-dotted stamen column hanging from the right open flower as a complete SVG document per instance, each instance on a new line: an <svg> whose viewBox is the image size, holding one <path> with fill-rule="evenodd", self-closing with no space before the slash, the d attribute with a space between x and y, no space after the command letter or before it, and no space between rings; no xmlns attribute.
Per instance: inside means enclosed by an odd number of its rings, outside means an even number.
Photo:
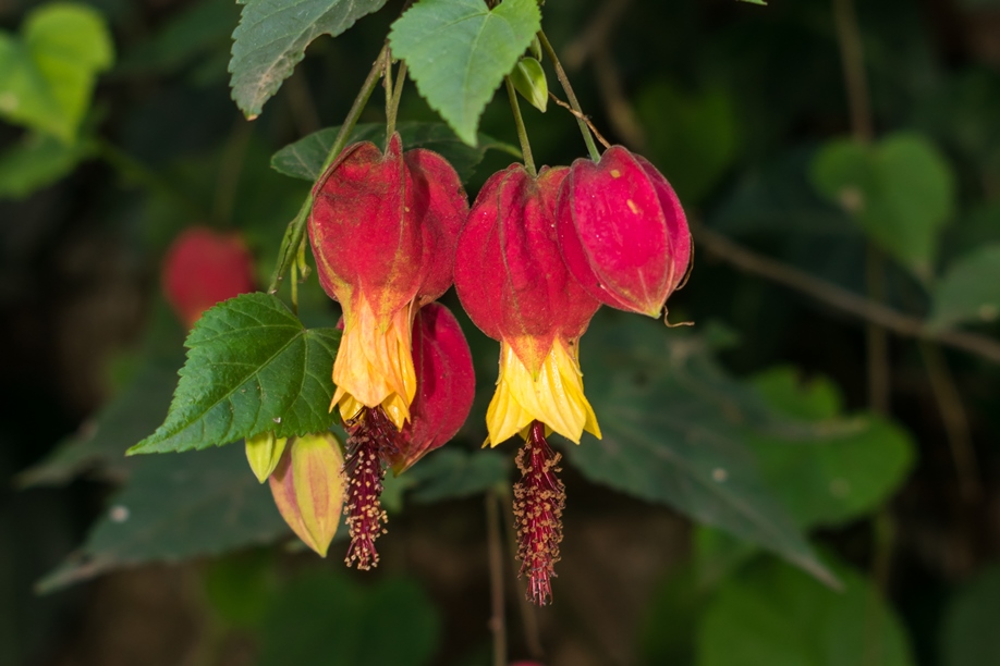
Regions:
<svg viewBox="0 0 1000 666"><path fill-rule="evenodd" d="M514 484L514 520L521 575L527 574L526 596L539 606L552 599L554 565L562 541L565 486L556 476L562 456L545 439L545 425L532 421L524 447L517 453L521 480Z"/></svg>

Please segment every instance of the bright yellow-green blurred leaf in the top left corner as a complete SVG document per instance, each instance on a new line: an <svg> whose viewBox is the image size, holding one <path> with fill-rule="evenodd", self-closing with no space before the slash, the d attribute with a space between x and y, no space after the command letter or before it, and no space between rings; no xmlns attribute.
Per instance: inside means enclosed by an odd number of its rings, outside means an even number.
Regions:
<svg viewBox="0 0 1000 666"><path fill-rule="evenodd" d="M0 32L0 116L72 143L99 72L114 47L99 12L52 3L25 20L22 37Z"/></svg>

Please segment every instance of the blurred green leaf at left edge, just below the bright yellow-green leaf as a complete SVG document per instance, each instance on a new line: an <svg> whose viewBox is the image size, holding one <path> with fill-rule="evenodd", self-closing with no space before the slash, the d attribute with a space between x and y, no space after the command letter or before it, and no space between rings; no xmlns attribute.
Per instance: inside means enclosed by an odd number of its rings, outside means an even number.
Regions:
<svg viewBox="0 0 1000 666"><path fill-rule="evenodd" d="M32 133L0 153L0 198L20 199L68 175L93 155L89 143L65 144Z"/></svg>

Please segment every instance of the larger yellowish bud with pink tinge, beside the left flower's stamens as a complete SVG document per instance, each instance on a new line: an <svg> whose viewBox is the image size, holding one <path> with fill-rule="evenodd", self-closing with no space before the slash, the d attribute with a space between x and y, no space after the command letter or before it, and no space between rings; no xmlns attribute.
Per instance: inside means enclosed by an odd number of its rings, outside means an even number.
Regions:
<svg viewBox="0 0 1000 666"><path fill-rule="evenodd" d="M344 457L332 432L293 437L275 473L271 495L292 531L327 556L343 507Z"/></svg>

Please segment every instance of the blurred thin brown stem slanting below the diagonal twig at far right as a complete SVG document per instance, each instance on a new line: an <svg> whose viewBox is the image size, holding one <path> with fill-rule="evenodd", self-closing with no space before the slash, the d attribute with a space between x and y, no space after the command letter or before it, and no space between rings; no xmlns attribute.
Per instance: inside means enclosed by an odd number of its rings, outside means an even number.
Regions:
<svg viewBox="0 0 1000 666"><path fill-rule="evenodd" d="M927 367L927 377L934 390L938 409L941 411L941 422L948 434L948 444L951 447L951 457L955 464L959 477L959 489L962 498L967 504L974 504L983 495L979 485L979 471L976 464L976 453L973 449L972 436L968 432L968 418L962 406L962 396L955 386L955 380L948 368L948 361L941 354L941 348L935 344L920 343L920 354Z"/></svg>

